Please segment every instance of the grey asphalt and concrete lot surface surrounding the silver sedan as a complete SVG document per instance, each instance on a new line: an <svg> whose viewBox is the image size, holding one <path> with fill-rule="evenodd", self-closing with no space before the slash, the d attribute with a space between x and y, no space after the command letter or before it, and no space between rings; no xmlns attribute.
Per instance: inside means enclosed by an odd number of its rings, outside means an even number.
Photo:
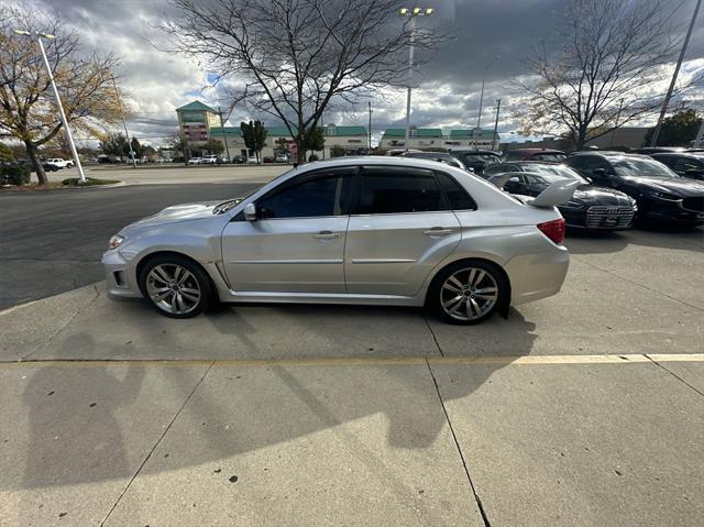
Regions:
<svg viewBox="0 0 704 527"><path fill-rule="evenodd" d="M244 174L0 196L0 524L702 525L701 228L571 235L471 328L106 298L107 237Z"/></svg>

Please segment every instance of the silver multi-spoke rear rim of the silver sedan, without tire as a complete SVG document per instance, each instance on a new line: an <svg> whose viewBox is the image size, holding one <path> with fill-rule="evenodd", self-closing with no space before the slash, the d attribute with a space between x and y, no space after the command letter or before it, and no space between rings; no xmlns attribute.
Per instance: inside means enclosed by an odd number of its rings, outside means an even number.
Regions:
<svg viewBox="0 0 704 527"><path fill-rule="evenodd" d="M491 273L465 267L451 274L440 288L442 310L457 320L476 320L488 314L498 300L498 284Z"/></svg>

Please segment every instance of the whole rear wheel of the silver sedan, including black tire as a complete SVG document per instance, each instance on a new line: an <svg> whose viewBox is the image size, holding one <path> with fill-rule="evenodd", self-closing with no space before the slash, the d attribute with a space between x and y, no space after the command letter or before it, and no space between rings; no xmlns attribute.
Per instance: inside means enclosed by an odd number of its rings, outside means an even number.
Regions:
<svg viewBox="0 0 704 527"><path fill-rule="evenodd" d="M482 260L448 265L428 288L427 305L449 323L473 326L506 303L508 284L499 268Z"/></svg>

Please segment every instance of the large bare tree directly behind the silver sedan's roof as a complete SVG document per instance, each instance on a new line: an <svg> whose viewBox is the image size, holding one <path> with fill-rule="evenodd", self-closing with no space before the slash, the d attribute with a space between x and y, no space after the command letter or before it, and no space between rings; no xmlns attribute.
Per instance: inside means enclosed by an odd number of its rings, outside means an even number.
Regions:
<svg viewBox="0 0 704 527"><path fill-rule="evenodd" d="M172 0L165 23L172 50L205 59L234 85L231 105L284 122L298 161L330 105L353 103L383 87L402 86L414 44L441 42L413 32L397 0Z"/></svg>

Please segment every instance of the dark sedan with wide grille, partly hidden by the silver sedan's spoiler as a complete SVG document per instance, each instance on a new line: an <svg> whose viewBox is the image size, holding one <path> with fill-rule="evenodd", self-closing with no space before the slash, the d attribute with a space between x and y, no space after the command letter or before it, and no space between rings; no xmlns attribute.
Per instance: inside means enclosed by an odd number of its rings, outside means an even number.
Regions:
<svg viewBox="0 0 704 527"><path fill-rule="evenodd" d="M517 173L505 177L507 174ZM578 229L620 230L632 226L638 207L630 196L613 188L590 184L572 168L554 163L516 161L499 163L484 171L490 183L509 194L538 196L560 178L576 179L580 185L569 201L559 204L568 227Z"/></svg>

